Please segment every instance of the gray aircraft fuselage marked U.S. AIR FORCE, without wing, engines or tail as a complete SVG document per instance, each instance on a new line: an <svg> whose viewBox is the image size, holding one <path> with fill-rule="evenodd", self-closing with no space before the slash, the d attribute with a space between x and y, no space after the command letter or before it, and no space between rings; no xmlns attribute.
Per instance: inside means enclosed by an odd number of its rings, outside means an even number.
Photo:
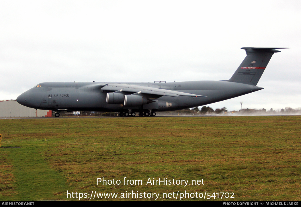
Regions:
<svg viewBox="0 0 301 207"><path fill-rule="evenodd" d="M104 85L110 83L85 82L44 82L17 97L17 102L31 108L52 111L104 111L122 112L126 110L172 111L198 107L209 103L234 98L263 88L229 81L189 81L155 83L119 83L127 86L145 86L171 91L198 94L205 97L161 96L153 102L135 107L126 107L122 103L107 103L108 91ZM116 88L116 91L119 88Z"/></svg>

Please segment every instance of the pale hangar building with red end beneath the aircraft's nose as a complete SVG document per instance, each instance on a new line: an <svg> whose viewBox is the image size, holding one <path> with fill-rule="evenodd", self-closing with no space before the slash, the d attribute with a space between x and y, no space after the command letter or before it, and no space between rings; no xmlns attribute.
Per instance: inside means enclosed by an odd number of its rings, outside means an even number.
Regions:
<svg viewBox="0 0 301 207"><path fill-rule="evenodd" d="M5 117L50 117L51 111L36 110L19 104L16 100L0 100L0 118Z"/></svg>

